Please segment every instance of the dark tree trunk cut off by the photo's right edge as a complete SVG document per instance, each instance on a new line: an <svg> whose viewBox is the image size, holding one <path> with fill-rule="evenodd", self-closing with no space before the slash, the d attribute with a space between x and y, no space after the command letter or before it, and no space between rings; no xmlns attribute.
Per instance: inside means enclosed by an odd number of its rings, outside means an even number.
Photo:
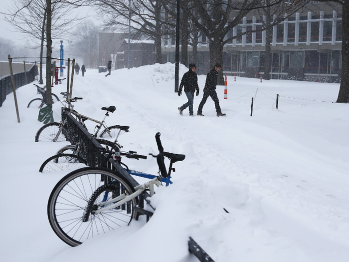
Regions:
<svg viewBox="0 0 349 262"><path fill-rule="evenodd" d="M349 102L349 1L342 4L342 74L337 103Z"/></svg>

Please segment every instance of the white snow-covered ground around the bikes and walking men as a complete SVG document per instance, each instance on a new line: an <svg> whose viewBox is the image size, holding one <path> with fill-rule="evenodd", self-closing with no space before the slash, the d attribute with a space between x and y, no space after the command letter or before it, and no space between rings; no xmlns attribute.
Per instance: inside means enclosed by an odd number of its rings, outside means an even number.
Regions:
<svg viewBox="0 0 349 262"><path fill-rule="evenodd" d="M186 70L181 65L179 75ZM73 96L83 97L74 109L102 119L100 108L115 105L107 124L130 126L119 142L139 154L157 153L155 134L161 132L165 151L186 155L174 164L174 184L157 190L148 223L133 221L76 248L66 245L51 230L46 210L53 187L68 172L38 169L67 142L34 142L42 123L38 109L26 106L38 95L32 84L20 87L21 122L13 94L0 108L1 261L195 262L189 236L215 262L349 261L349 105L330 103L339 84L234 82L228 76L228 99L217 86L226 117L216 117L211 98L200 117L200 75L195 116L189 117L188 109L178 114L186 97L174 93L174 64L104 75L88 70L74 76ZM53 92L65 89L66 81ZM60 107L53 105L55 121ZM158 170L154 158L125 162L151 174Z"/></svg>

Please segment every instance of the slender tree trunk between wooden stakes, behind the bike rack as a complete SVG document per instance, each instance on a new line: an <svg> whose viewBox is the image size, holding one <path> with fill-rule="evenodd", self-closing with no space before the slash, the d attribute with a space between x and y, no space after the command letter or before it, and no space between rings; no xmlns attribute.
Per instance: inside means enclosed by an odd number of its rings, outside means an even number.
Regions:
<svg viewBox="0 0 349 262"><path fill-rule="evenodd" d="M52 105L51 95L51 56L52 56L52 39L51 39L51 0L46 0L46 96L47 103Z"/></svg>

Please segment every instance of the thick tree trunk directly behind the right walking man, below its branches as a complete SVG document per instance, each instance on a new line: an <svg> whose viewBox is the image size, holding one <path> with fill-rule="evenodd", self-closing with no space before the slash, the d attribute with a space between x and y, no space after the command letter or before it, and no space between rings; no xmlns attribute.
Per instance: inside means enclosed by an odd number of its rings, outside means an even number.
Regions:
<svg viewBox="0 0 349 262"><path fill-rule="evenodd" d="M223 41L219 36L209 39L209 58L210 68L213 68L216 63L222 65L218 72L217 85L224 85L223 78Z"/></svg>

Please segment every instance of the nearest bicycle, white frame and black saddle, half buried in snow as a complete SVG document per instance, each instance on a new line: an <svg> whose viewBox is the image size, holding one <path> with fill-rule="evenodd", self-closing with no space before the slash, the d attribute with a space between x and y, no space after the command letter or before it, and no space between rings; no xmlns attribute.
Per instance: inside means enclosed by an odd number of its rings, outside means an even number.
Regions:
<svg viewBox="0 0 349 262"><path fill-rule="evenodd" d="M105 167L78 169L57 183L48 200L47 215L51 228L63 242L76 247L94 235L129 225L140 214L152 215L152 212L142 209L145 191L153 196L154 185L161 186L161 181L174 171L173 163L185 158L185 155L164 152L160 133L155 138L159 154L150 155L157 158L160 175L153 175L143 185L133 186L135 183L122 172L117 172L117 167L116 170ZM111 157L119 161L121 156L120 152L111 151L105 163ZM171 160L168 172L164 157ZM155 210L150 201L146 201Z"/></svg>

